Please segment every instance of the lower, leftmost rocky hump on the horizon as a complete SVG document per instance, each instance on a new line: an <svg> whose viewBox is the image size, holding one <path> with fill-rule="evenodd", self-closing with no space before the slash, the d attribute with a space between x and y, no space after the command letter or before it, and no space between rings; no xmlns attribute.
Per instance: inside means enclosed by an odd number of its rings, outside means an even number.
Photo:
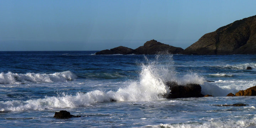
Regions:
<svg viewBox="0 0 256 128"><path fill-rule="evenodd" d="M108 54L134 54L135 51L132 48L119 46L116 48L112 48L110 50L102 50L100 52L96 52L96 55L108 55Z"/></svg>

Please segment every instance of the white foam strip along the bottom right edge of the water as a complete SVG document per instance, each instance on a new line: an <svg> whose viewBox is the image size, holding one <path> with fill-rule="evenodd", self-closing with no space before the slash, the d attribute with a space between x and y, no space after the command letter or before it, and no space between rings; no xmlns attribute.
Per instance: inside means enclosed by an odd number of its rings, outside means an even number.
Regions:
<svg viewBox="0 0 256 128"><path fill-rule="evenodd" d="M178 123L178 124L159 124L148 125L144 127L151 128L239 128L239 127L255 127L256 118L250 120L238 120L238 121L210 121L210 122L192 122L192 123Z"/></svg>

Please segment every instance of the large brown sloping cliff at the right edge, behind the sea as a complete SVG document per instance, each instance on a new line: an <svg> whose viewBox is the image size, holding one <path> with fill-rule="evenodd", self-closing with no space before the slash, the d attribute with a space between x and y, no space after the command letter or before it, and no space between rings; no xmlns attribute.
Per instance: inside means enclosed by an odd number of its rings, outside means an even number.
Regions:
<svg viewBox="0 0 256 128"><path fill-rule="evenodd" d="M256 16L203 35L181 54L256 54Z"/></svg>

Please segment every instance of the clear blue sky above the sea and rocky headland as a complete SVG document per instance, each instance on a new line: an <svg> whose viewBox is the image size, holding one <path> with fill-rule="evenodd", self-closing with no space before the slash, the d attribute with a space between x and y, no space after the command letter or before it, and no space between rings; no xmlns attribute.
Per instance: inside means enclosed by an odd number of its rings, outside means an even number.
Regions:
<svg viewBox="0 0 256 128"><path fill-rule="evenodd" d="M0 0L0 51L99 51L157 40L183 49L256 15L255 0Z"/></svg>

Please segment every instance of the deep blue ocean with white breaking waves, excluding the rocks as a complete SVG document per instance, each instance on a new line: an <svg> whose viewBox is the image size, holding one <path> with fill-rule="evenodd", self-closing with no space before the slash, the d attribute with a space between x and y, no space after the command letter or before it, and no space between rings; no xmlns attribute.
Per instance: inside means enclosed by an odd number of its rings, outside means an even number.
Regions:
<svg viewBox="0 0 256 128"><path fill-rule="evenodd" d="M0 52L0 127L256 127L255 96L225 97L256 85L256 55L95 52ZM214 97L165 99L168 81Z"/></svg>

